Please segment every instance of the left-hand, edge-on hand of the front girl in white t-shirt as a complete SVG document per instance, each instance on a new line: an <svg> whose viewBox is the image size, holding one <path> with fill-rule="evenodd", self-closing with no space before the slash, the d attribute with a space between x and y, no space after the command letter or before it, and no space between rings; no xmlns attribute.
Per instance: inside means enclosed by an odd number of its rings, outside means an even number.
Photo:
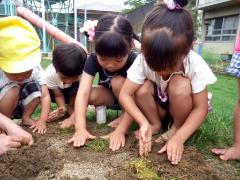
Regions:
<svg viewBox="0 0 240 180"><path fill-rule="evenodd" d="M139 154L141 156L147 155L151 151L152 128L146 122L143 123L139 129Z"/></svg>

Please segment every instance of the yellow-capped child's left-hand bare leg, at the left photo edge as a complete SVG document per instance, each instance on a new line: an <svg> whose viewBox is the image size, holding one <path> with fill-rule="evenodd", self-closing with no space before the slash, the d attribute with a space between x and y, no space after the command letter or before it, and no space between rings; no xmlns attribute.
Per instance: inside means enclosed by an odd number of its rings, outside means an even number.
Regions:
<svg viewBox="0 0 240 180"><path fill-rule="evenodd" d="M11 118L18 104L20 87L14 86L0 100L0 112Z"/></svg>

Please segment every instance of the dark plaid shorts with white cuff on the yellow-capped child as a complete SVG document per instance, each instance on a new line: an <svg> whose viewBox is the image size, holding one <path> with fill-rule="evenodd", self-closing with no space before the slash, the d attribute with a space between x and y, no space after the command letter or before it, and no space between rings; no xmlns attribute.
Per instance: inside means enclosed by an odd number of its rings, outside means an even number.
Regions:
<svg viewBox="0 0 240 180"><path fill-rule="evenodd" d="M37 81L24 83L20 89L18 104L13 113L14 119L22 117L24 106L32 102L35 98L41 97L41 87Z"/></svg>

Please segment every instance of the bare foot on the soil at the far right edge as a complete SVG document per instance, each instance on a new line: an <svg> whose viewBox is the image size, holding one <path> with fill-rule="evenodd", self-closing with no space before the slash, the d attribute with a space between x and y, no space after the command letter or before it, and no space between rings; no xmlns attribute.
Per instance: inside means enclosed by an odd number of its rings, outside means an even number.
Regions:
<svg viewBox="0 0 240 180"><path fill-rule="evenodd" d="M221 160L240 160L240 146L232 146L228 149L212 149L212 153L218 155Z"/></svg>

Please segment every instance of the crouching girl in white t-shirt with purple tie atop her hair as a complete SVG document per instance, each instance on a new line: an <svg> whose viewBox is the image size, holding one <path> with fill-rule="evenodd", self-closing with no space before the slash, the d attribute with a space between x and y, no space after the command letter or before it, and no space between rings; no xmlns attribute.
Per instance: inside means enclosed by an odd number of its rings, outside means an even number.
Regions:
<svg viewBox="0 0 240 180"><path fill-rule="evenodd" d="M191 50L194 28L190 13L183 9L187 3L167 1L147 15L141 34L142 54L128 70L120 93L123 107L140 125L140 155L151 150L152 118L163 120L171 115L173 125L164 134L167 142L159 153L166 151L172 164L181 160L184 143L206 117L207 85L216 81L205 61ZM145 79L154 86L145 84L145 91L135 93ZM149 115L154 114L153 102L159 109L156 117Z"/></svg>

